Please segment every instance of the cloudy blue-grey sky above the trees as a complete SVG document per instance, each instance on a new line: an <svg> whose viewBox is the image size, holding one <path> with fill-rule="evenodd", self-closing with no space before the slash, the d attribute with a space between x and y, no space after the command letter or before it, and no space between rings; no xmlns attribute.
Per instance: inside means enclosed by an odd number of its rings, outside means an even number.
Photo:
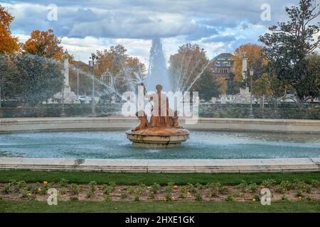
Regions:
<svg viewBox="0 0 320 227"><path fill-rule="evenodd" d="M151 38L162 38L168 59L178 47L198 44L213 58L241 44L258 43L268 26L287 21L285 6L298 0L0 0L14 17L11 31L21 42L31 31L53 29L75 60L122 44L129 55L149 61ZM270 14L265 14L270 6ZM55 10L56 9L56 10ZM262 17L262 16L269 16ZM263 18L263 19L262 19ZM266 20L270 19L270 20ZM320 34L319 34L320 35Z"/></svg>

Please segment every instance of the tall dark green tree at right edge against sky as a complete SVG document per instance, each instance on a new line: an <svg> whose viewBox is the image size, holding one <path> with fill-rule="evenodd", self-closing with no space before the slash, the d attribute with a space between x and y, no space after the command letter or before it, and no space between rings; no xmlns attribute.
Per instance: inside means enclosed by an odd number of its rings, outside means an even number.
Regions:
<svg viewBox="0 0 320 227"><path fill-rule="evenodd" d="M270 33L260 36L259 40L266 45L263 52L274 73L284 84L291 84L302 101L310 94L306 87L312 86L306 84L307 58L320 45L316 35L319 26L315 24L320 15L319 4L316 0L300 0L299 6L286 7L285 11L289 21L270 27Z"/></svg>

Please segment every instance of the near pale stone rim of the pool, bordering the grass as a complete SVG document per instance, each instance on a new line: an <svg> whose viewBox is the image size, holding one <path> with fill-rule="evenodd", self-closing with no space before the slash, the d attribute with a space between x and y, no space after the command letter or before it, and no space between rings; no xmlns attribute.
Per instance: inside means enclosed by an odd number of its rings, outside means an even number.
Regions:
<svg viewBox="0 0 320 227"><path fill-rule="evenodd" d="M0 170L102 172L315 172L320 157L247 160L111 160L0 157Z"/></svg>

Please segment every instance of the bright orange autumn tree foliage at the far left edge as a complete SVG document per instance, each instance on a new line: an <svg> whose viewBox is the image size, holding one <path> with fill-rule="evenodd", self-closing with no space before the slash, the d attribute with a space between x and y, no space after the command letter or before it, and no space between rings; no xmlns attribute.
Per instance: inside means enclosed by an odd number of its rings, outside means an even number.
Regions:
<svg viewBox="0 0 320 227"><path fill-rule="evenodd" d="M11 35L11 22L14 17L0 5L0 54L14 53L20 50L18 38Z"/></svg>

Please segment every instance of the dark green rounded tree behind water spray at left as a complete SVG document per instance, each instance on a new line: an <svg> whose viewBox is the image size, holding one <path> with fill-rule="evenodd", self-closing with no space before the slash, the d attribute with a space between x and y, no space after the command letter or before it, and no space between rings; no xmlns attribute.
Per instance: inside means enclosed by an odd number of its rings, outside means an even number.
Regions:
<svg viewBox="0 0 320 227"><path fill-rule="evenodd" d="M63 75L58 62L36 55L6 58L10 72L4 74L4 96L35 106L62 89Z"/></svg>

